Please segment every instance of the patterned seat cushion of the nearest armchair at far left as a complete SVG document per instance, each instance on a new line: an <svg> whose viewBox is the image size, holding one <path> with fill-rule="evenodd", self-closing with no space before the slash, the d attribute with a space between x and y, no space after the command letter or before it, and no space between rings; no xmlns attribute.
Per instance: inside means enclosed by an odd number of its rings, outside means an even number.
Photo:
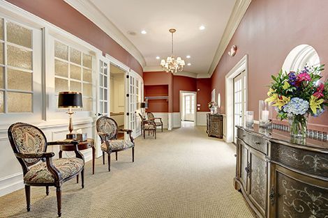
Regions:
<svg viewBox="0 0 328 218"><path fill-rule="evenodd" d="M63 179L72 176L79 172L83 166L84 161L80 158L60 158L52 159L52 164L61 173ZM24 182L29 183L47 183L54 182L54 176L48 171L46 163L42 162L35 166L32 166L24 176Z"/></svg>

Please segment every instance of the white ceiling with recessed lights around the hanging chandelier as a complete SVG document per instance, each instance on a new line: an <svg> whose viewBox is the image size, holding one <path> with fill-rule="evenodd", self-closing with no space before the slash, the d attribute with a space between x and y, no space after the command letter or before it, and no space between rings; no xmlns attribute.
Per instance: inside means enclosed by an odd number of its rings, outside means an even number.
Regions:
<svg viewBox="0 0 328 218"><path fill-rule="evenodd" d="M159 66L161 60L156 56L165 59L170 55L168 30L174 28L174 55L191 63L184 71L207 74L236 0L88 1L137 47L146 68ZM200 31L201 25L206 29ZM142 30L147 34L141 34ZM136 35L131 36L129 31Z"/></svg>

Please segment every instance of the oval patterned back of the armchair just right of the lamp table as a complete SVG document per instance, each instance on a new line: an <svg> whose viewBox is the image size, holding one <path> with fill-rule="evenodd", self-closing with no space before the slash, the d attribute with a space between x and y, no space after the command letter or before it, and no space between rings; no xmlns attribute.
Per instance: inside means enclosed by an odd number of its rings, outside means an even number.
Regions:
<svg viewBox="0 0 328 218"><path fill-rule="evenodd" d="M97 132L103 132L108 134L107 139L117 139L117 133L119 132L119 127L116 121L107 116L102 116L96 121Z"/></svg>

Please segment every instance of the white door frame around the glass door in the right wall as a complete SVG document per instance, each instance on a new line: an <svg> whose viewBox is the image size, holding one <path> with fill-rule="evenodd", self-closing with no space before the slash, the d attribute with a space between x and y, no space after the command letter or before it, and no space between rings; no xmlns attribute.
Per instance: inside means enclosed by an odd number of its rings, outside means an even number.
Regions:
<svg viewBox="0 0 328 218"><path fill-rule="evenodd" d="M225 141L230 143L234 136L234 77L244 72L246 79L246 110L248 109L248 54L246 54L229 72L225 75L225 122L227 131Z"/></svg>

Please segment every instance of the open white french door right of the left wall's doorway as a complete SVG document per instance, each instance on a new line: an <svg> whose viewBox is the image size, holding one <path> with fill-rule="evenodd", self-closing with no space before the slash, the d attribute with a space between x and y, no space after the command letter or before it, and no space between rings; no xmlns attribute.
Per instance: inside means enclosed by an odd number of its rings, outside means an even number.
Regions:
<svg viewBox="0 0 328 218"><path fill-rule="evenodd" d="M140 119L137 114L140 113L140 102L142 101L142 78L136 72L126 72L126 90L127 90L127 107L126 107L126 126L132 130L133 137L141 134Z"/></svg>

